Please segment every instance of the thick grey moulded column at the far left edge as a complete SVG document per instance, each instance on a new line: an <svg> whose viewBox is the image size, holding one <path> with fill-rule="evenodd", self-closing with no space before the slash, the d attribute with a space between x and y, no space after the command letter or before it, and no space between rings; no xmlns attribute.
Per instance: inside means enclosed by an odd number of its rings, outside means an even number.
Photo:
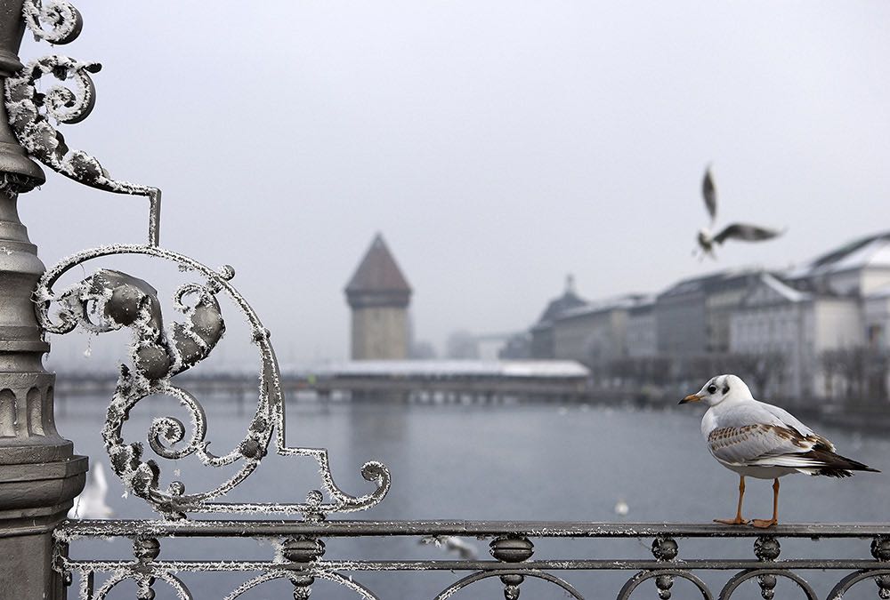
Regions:
<svg viewBox="0 0 890 600"><path fill-rule="evenodd" d="M21 68L21 0L0 1L0 87ZM53 528L84 488L87 460L56 431L32 294L44 264L19 220L20 193L44 173L20 147L0 102L0 598L65 597Z"/></svg>

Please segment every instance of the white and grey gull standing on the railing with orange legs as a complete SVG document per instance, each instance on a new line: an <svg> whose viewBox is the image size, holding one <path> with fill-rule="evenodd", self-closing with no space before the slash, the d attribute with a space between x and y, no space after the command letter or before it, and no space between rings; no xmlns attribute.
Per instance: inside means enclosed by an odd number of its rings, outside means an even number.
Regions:
<svg viewBox="0 0 890 600"><path fill-rule="evenodd" d="M748 524L741 516L746 476L773 479L773 518L750 522L755 527L771 527L779 520L779 477L790 473L849 477L854 471L879 472L836 454L834 444L788 411L755 400L735 375L717 375L680 404L689 402L710 406L701 419L701 434L717 462L740 477L735 518L714 519L716 523Z"/></svg>

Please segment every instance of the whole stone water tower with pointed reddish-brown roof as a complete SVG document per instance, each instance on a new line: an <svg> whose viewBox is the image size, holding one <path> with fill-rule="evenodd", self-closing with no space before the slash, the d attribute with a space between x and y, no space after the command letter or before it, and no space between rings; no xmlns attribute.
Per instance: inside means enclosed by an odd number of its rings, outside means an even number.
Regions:
<svg viewBox="0 0 890 600"><path fill-rule="evenodd" d="M408 358L411 287L379 233L346 285L352 360Z"/></svg>

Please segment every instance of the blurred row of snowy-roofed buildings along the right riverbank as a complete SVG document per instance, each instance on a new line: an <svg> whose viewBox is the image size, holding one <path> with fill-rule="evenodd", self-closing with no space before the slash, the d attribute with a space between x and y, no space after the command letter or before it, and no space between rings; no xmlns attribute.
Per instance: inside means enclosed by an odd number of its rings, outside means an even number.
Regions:
<svg viewBox="0 0 890 600"><path fill-rule="evenodd" d="M502 356L574 359L663 385L737 372L772 397L886 398L890 232L787 270L724 270L588 301L569 278Z"/></svg>

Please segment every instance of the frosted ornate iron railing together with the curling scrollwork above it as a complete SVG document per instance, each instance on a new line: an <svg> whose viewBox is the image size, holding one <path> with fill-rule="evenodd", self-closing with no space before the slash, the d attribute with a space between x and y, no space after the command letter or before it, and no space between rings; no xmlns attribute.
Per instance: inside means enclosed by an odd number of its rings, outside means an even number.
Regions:
<svg viewBox="0 0 890 600"><path fill-rule="evenodd" d="M24 20L37 38L55 44L72 41L82 25L80 14L66 2L44 4L39 0L26 0L20 12L20 15L12 15L12 18ZM9 18L8 15L6 18ZM190 598L192 593L183 581L183 573L241 572L246 579L232 588L227 598L237 598L272 580L289 581L293 585L295 598L307 598L315 580L331 581L362 598L376 598L384 596L376 596L369 587L360 583L363 574L423 571L466 573L457 575L457 580L440 592L433 591L430 597L437 599L458 596L465 590L472 593L475 584L493 578L499 580L508 599L519 597L522 584L528 579L544 580L563 595L591 597L585 596L583 589L569 582L571 572L632 572L618 592L619 599L632 596L644 582L653 580L658 596L667 600L677 579L691 582L704 598L728 598L743 582L756 580L762 596L767 600L773 597L777 581L786 579L797 585L806 598L814 599L816 592L797 572L828 570L838 573L837 583L828 593L829 598L844 596L847 590L862 580L875 580L878 595L890 598L888 524L782 525L762 531L709 524L331 520L330 516L370 508L383 500L390 487L389 471L379 462L366 462L361 476L374 484L374 489L365 495L352 496L334 482L326 449L287 444L285 402L269 332L245 297L231 284L234 269L229 266L208 268L190 257L161 248L159 190L114 180L95 158L81 151L69 150L61 133L56 131L49 119L54 117L60 123L83 120L94 103L95 88L90 74L98 70L99 66L95 63L53 55L28 63L17 74L6 78L4 84L5 109L12 131L30 156L54 171L94 188L150 199L148 244L103 246L80 252L47 269L36 284L36 315L44 332L63 334L80 327L93 333L124 328L132 333L130 364L119 367L120 375L109 402L102 436L110 464L125 488L145 500L161 517L143 521L73 520L56 527L53 532L53 568L68 584L74 582L74 575L77 574L80 597L104 598L117 591L117 586L122 582L130 581L135 583L139 598L155 597L158 582L166 584L180 598ZM76 90L56 86L46 92L38 92L36 82L43 76L54 76L62 81L73 80ZM37 175L28 179L17 176L15 172L4 172L0 188L14 198L14 195L33 188L38 179ZM174 293L174 309L182 314L182 321L165 326L155 289L142 279L120 271L98 268L79 282L61 290L56 289L61 277L69 274L72 268L118 255L139 255L166 261L194 276L194 281L182 284ZM209 449L210 438L202 404L196 396L178 387L174 383L174 376L204 360L222 338L225 322L219 302L221 296L231 300L247 323L257 348L259 378L256 409L246 423L243 436L227 452L216 453ZM32 346L34 348L28 347L31 353L44 351L39 344ZM141 442L126 441L124 433L124 423L130 413L150 396L173 397L189 415L187 423L173 416L152 420L146 439L153 458L145 456L146 450ZM51 402L48 406L52 409ZM51 423L52 420L47 422ZM44 436L44 433L36 435ZM319 489L308 491L303 502L223 501L229 492L247 481L270 451L314 460L319 468ZM219 484L198 492L192 491L186 482L175 479L162 484L162 478L169 478L164 469L168 461L188 456L195 457L205 468L231 468L234 474L223 475ZM177 476L175 469L173 476ZM67 509L70 502L65 501L67 505L63 508ZM57 509L53 508L58 512ZM277 521L190 518L190 514L195 513L276 514L301 518ZM27 524L16 526L20 529L15 535L28 533ZM335 544L336 540L343 538L408 537L447 543L458 539L458 536L490 540L493 559L325 558L326 543ZM162 549L169 540L198 537L219 540L214 547L214 550L218 550L215 556L202 560L161 557ZM132 540L132 558L72 557L72 544L89 538ZM270 556L266 560L239 559L229 556L231 553L228 551L220 556L227 548L226 540L235 538L271 541ZM535 543L542 540L593 538L651 540L652 558L593 559L539 557L535 554ZM754 557L681 558L677 540L691 538L753 538ZM780 540L792 538L866 540L862 543L870 544L871 558L780 559ZM700 572L708 571L735 573L715 593L700 577ZM63 591L53 593L53 597L64 596Z"/></svg>

